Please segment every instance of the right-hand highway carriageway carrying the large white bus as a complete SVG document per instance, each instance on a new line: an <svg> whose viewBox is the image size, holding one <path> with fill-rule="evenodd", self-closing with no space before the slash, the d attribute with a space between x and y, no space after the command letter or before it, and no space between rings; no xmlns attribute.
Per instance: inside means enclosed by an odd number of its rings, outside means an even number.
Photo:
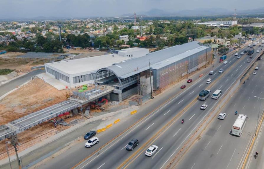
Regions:
<svg viewBox="0 0 264 169"><path fill-rule="evenodd" d="M242 158L247 153L252 137L255 134L258 114L263 112L264 100L254 96L264 97L264 63L256 62L259 68L256 75L252 72L249 80L242 84L232 96L228 104L221 110L227 114L224 120L217 117L211 122L193 147L186 153L176 168L241 168ZM248 116L242 135L236 137L230 134L238 114ZM263 145L259 151L263 150ZM255 159L252 158L252 167L256 168ZM258 168L263 168L263 164Z"/></svg>

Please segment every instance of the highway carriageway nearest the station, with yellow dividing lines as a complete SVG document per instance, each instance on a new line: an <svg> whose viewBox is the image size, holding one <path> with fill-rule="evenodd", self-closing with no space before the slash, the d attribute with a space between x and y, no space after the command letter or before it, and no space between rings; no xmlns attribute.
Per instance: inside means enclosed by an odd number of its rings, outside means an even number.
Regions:
<svg viewBox="0 0 264 169"><path fill-rule="evenodd" d="M248 49L248 47L245 47L238 53L245 49ZM253 58L255 58L257 54L258 53L254 53ZM215 64L213 68L215 71L214 75L209 75L209 71L207 71L203 77L198 78L198 80L193 81L191 84L187 84L187 87L183 89L181 93L177 93L181 91L180 89L176 90L175 93L171 93L172 96L175 96L167 101L166 104L154 110L133 127L120 134L119 137L114 139L110 144L106 145L98 152L96 151L95 155L91 155L91 153L111 140L120 131L129 127L135 120L139 119L139 117L143 117L150 112L151 108L143 109L148 111L139 112L135 116L134 121L127 121L126 124L123 123L124 125L120 126L117 131L110 129L107 134L98 134L97 137L99 137L100 142L91 149L86 149L84 144L82 146L79 145L78 149L71 150L71 152L74 153L67 153L66 151L63 158L55 157L50 161L50 164L40 168L50 168L50 166L70 168L76 164L76 161L79 162L89 155L91 156L89 156L78 168L117 168L127 159L130 159L128 163L125 163L127 168L164 167L165 163L170 160L170 157L175 155L178 148L182 146L183 142L194 132L197 125L199 125L214 105L217 104L217 101L219 101L219 99L214 100L211 98L208 98L206 101L198 101L196 98L199 92L205 88L212 92L217 89L221 89L222 93L227 91L236 78L238 78L242 71L248 66L246 62L247 59L248 56L246 54L240 59L237 59L233 55L227 58L228 63L226 65L222 63ZM218 73L220 68L224 69L224 73ZM211 84L205 83L208 78L211 78ZM208 108L202 111L199 108L204 103L208 104ZM185 119L184 124L181 124L182 118ZM124 147L132 138L139 140L139 146L133 151L128 152ZM153 144L159 147L159 151L156 152L153 157L146 157L144 152L149 145Z"/></svg>

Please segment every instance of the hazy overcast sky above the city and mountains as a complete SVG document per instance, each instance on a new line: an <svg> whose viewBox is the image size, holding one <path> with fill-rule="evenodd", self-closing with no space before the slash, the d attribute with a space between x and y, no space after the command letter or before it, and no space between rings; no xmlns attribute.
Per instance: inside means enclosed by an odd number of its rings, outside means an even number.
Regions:
<svg viewBox="0 0 264 169"><path fill-rule="evenodd" d="M0 0L0 18L93 17L161 9L177 12L183 9L224 8L255 9L263 7L263 0ZM252 5L255 4L255 5Z"/></svg>

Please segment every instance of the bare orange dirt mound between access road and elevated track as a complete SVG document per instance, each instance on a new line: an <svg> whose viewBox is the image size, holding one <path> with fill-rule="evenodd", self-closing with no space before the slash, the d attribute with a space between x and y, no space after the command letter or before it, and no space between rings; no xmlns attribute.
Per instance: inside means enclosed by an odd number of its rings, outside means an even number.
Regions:
<svg viewBox="0 0 264 169"><path fill-rule="evenodd" d="M59 91L36 78L0 101L0 125L64 101L70 91Z"/></svg>

